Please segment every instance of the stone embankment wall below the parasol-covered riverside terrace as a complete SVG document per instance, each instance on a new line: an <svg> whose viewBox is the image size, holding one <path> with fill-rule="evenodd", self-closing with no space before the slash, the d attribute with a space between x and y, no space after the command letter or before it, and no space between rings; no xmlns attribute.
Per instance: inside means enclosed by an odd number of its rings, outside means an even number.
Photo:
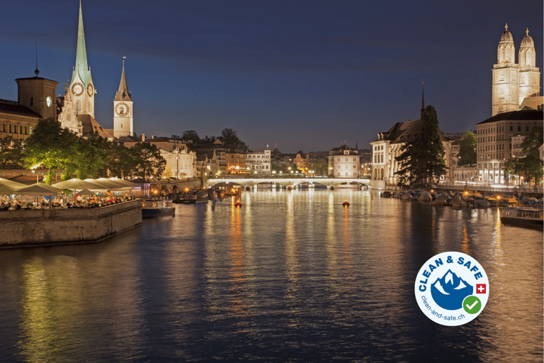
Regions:
<svg viewBox="0 0 544 363"><path fill-rule="evenodd" d="M142 201L100 208L0 211L0 248L99 242L142 224Z"/></svg>

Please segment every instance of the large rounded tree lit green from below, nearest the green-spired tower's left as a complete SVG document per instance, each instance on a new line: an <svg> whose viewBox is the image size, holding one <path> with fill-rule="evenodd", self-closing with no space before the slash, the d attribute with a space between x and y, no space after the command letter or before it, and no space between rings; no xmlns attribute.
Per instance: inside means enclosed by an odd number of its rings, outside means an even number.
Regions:
<svg viewBox="0 0 544 363"><path fill-rule="evenodd" d="M60 122L48 118L39 120L32 135L26 139L27 167L42 166L49 169L47 183L51 184L51 169L74 169L78 136ZM54 172L53 172L54 174Z"/></svg>

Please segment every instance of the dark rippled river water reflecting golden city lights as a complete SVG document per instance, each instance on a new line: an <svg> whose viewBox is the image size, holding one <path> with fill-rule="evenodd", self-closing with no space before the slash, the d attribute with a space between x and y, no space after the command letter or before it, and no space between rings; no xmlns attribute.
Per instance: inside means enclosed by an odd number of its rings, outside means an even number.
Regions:
<svg viewBox="0 0 544 363"><path fill-rule="evenodd" d="M0 361L543 361L541 230L377 191L242 203L179 205L94 245L0 250ZM421 265L446 251L490 284L458 327L414 297Z"/></svg>

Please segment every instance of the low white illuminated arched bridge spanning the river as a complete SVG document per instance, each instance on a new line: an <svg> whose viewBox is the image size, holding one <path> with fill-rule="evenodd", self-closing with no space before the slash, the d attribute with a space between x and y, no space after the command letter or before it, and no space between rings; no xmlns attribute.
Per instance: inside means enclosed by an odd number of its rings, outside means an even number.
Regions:
<svg viewBox="0 0 544 363"><path fill-rule="evenodd" d="M287 189L293 189L293 187L302 183L309 184L322 184L327 186L327 189L335 189L336 186L340 184L351 184L357 183L361 185L370 186L370 179L360 179L360 178L316 178L316 177L300 177L300 178L280 178L280 177L261 177L261 178L220 178L220 179L208 179L208 187L214 186L217 184L239 184L244 187L244 189L251 189L257 184L271 183L271 184L280 184L285 186Z"/></svg>

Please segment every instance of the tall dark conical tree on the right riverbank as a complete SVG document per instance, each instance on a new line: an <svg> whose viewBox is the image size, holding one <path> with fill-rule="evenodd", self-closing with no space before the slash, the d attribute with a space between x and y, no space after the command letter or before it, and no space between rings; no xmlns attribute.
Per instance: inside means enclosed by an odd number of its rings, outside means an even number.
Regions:
<svg viewBox="0 0 544 363"><path fill-rule="evenodd" d="M404 188L429 189L433 179L446 174L444 147L438 131L438 117L433 106L421 110L421 130L414 141L401 147L397 157L401 169L398 185Z"/></svg>

